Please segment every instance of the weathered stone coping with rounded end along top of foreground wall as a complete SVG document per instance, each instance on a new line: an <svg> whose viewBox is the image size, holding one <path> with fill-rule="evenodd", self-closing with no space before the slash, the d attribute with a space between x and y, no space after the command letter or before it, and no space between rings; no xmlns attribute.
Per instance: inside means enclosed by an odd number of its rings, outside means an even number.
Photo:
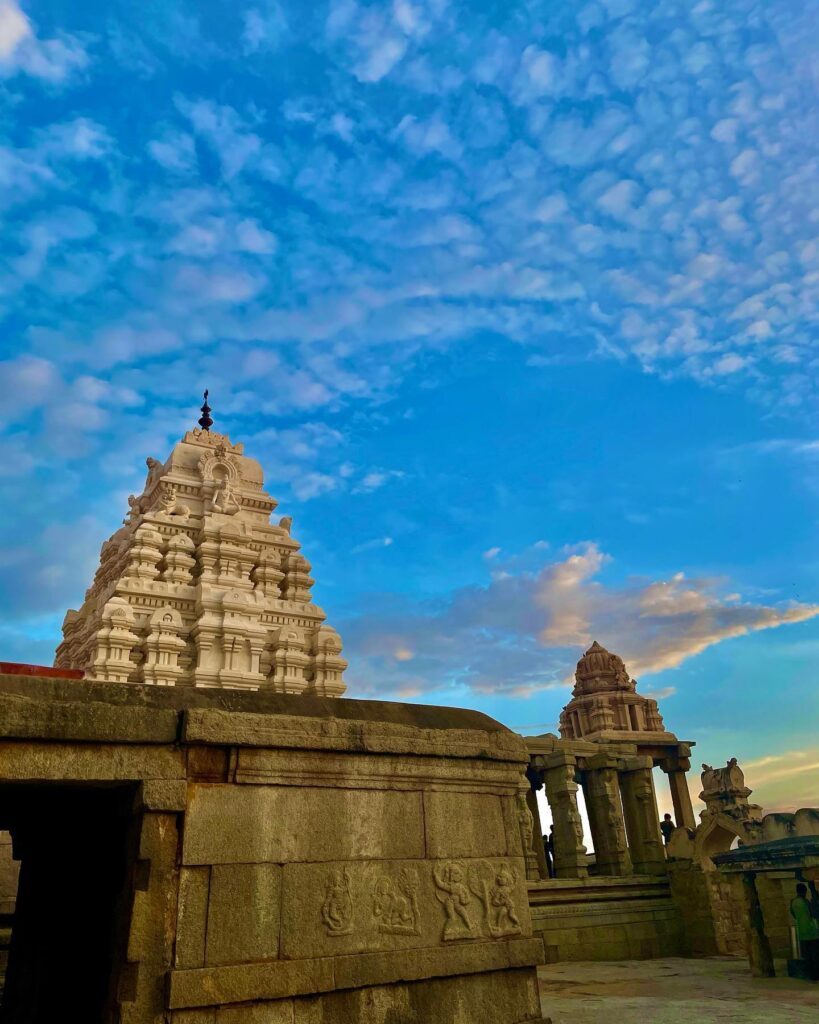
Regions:
<svg viewBox="0 0 819 1024"><path fill-rule="evenodd" d="M2 673L0 738L528 761L519 736L464 709Z"/></svg>

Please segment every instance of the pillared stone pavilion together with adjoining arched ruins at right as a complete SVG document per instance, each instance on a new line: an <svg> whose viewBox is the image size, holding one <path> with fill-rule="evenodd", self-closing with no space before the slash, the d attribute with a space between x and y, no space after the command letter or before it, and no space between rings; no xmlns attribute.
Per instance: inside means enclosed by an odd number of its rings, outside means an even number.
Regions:
<svg viewBox="0 0 819 1024"><path fill-rule="evenodd" d="M759 859L767 864L759 868L755 899L772 923L772 963L777 973L784 973L785 896L792 896L794 854L788 849L790 860L782 862L786 869L778 878L762 854L775 840L806 843L806 837L819 836L819 810L763 815L749 802L751 791L731 759L724 768L702 766L699 797L705 809L697 823L687 780L694 744L664 728L656 701L639 694L622 659L597 642L577 663L560 732L560 737L526 738L536 861L528 874L529 904L547 961L738 955L748 948L748 935L752 953L760 942L748 930L742 858L737 851L725 852L740 843L746 850L759 847ZM677 825L664 848L654 794L656 768L667 778ZM541 790L554 821L551 879L537 842ZM585 845L579 792L593 856ZM748 853L751 861L753 856Z"/></svg>

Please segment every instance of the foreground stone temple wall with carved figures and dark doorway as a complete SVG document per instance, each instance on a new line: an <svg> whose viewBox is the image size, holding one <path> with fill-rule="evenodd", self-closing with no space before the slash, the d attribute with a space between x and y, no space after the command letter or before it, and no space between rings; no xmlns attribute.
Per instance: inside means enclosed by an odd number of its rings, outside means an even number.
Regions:
<svg viewBox="0 0 819 1024"><path fill-rule="evenodd" d="M103 1020L542 1021L527 753L485 716L0 676L0 827L23 851L5 1020L49 1019L25 1001L48 993L19 984L21 970L49 970L36 914L64 938L61 971L89 963L83 903L54 871L60 808L90 793L112 827L72 808L73 847L87 860L104 840L106 862L113 851L125 865L105 882L117 938ZM46 883L62 903L46 905ZM59 993L66 1018L72 997Z"/></svg>

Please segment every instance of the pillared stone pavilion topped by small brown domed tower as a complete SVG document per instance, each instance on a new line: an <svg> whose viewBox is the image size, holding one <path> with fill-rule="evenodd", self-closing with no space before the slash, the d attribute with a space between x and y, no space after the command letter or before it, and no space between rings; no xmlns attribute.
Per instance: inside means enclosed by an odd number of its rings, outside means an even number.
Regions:
<svg viewBox="0 0 819 1024"><path fill-rule="evenodd" d="M543 843L529 882L535 934L547 961L678 955L686 936L666 870L653 769L666 774L678 823L694 826L686 773L691 742L665 730L655 700L637 692L622 659L595 641L577 663L560 737L526 738L528 805L540 839L536 793L554 821L554 874ZM592 831L584 840L577 793Z"/></svg>

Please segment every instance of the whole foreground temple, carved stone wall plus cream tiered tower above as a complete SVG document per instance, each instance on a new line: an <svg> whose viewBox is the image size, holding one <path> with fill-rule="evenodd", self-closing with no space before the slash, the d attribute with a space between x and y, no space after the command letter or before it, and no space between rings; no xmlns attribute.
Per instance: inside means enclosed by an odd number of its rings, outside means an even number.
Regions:
<svg viewBox="0 0 819 1024"><path fill-rule="evenodd" d="M56 667L0 667L0 1020L545 1024L523 740L341 696L290 520L208 412Z"/></svg>

